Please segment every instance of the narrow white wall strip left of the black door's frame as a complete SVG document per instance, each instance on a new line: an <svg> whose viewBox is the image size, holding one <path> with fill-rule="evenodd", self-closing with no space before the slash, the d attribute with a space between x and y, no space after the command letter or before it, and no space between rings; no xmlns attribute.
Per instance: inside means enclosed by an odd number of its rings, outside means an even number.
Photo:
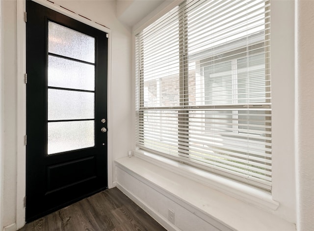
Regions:
<svg viewBox="0 0 314 231"><path fill-rule="evenodd" d="M3 88L4 88L4 185L3 185L3 226L16 220L17 181L17 23L15 1L2 1L3 20Z"/></svg>

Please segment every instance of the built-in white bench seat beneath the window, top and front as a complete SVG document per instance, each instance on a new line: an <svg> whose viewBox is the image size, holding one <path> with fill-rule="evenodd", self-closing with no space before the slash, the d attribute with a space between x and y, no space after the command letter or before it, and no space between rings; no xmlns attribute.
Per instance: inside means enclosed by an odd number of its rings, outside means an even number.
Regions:
<svg viewBox="0 0 314 231"><path fill-rule="evenodd" d="M117 187L167 230L295 231L294 224L269 211L139 155L117 159L115 164ZM174 224L168 220L168 209L175 213Z"/></svg>

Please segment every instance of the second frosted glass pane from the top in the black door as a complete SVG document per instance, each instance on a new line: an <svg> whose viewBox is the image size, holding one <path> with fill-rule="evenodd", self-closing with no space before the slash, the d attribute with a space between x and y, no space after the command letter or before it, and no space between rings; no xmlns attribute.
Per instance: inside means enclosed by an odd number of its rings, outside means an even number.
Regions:
<svg viewBox="0 0 314 231"><path fill-rule="evenodd" d="M95 66L48 56L48 86L95 90Z"/></svg>

